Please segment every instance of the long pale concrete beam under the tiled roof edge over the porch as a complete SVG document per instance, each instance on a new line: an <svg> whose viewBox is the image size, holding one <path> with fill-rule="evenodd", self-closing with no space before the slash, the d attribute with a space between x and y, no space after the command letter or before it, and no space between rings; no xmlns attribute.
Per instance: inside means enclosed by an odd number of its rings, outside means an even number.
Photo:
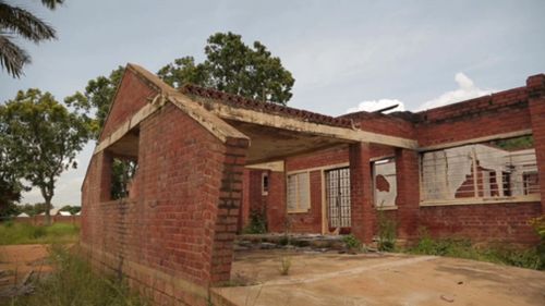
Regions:
<svg viewBox="0 0 545 306"><path fill-rule="evenodd" d="M331 126L326 124L318 124L313 122L305 122L300 119L282 117L278 114L264 113L255 110L233 108L223 103L201 102L204 107L217 114L219 118L246 122L257 125L272 126L293 132L319 135L324 137L331 137L347 142L363 142L380 144L393 147L401 147L408 149L417 149L419 144L416 140L383 135L361 130L351 130L346 127Z"/></svg>

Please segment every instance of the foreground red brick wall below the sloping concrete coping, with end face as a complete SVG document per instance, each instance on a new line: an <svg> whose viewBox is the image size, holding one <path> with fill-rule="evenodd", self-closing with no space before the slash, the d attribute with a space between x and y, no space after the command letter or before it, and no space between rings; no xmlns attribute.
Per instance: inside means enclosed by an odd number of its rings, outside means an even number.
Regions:
<svg viewBox="0 0 545 306"><path fill-rule="evenodd" d="M158 304L206 305L208 285L229 280L249 143L222 144L167 103L141 123L140 144L137 198L101 201L111 159L93 157L82 246Z"/></svg>

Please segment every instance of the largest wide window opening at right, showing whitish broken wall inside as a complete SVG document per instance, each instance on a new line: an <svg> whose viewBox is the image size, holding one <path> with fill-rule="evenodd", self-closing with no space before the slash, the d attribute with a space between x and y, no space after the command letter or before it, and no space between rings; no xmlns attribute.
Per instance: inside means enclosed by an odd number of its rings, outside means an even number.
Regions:
<svg viewBox="0 0 545 306"><path fill-rule="evenodd" d="M540 197L532 136L421 155L421 200L531 200Z"/></svg>

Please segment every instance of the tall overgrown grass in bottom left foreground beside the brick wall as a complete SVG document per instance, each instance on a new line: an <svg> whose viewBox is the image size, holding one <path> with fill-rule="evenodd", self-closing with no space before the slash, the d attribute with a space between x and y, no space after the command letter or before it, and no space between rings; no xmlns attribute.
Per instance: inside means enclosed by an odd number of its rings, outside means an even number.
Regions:
<svg viewBox="0 0 545 306"><path fill-rule="evenodd" d="M90 265L64 246L50 246L53 272L36 283L36 291L28 296L11 301L11 306L64 306L64 305L148 305L131 292L125 283L96 274Z"/></svg>

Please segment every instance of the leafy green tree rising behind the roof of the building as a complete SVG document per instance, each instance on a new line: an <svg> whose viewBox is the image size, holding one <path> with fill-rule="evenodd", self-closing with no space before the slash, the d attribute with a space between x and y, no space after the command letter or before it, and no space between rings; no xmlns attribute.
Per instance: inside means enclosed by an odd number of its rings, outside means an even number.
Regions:
<svg viewBox="0 0 545 306"><path fill-rule="evenodd" d="M280 105L286 105L292 96L294 78L259 41L254 41L252 48L240 35L216 33L208 37L205 54L203 63L195 64L193 58L185 57L157 74L174 87L193 83Z"/></svg>

